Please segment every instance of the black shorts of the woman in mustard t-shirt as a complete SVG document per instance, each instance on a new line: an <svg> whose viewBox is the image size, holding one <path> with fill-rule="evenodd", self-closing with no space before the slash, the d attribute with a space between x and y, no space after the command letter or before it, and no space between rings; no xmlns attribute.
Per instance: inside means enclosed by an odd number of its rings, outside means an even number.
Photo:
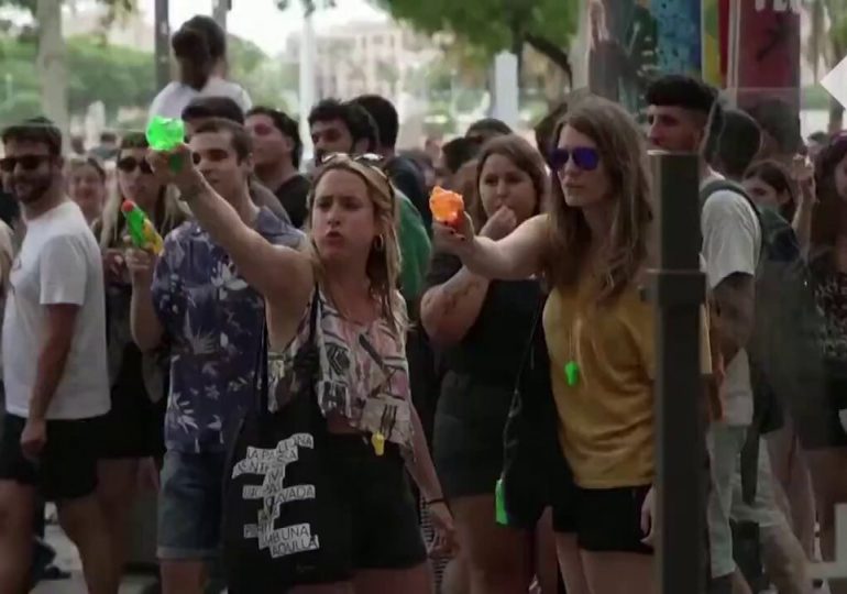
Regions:
<svg viewBox="0 0 847 594"><path fill-rule="evenodd" d="M575 534L586 551L652 554L641 540L641 506L650 485L622 488L575 487L573 505L553 509L553 530Z"/></svg>

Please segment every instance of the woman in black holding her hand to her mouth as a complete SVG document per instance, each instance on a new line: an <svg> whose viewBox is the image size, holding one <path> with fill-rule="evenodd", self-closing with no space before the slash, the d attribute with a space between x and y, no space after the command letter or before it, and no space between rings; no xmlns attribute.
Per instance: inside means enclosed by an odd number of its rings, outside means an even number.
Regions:
<svg viewBox="0 0 847 594"><path fill-rule="evenodd" d="M510 134L491 140L474 174L476 199L465 196L465 201L483 237L503 239L541 211L548 187L544 162L524 139ZM547 541L534 547L532 531L499 526L494 514L495 484L503 470L503 429L521 363L516 349L527 343L543 302L540 283L535 278L488 282L449 253L436 254L428 280L421 321L441 349L447 367L433 452L455 516L470 592L526 593L538 574L542 591L554 593L549 524ZM536 563L543 560L546 566Z"/></svg>

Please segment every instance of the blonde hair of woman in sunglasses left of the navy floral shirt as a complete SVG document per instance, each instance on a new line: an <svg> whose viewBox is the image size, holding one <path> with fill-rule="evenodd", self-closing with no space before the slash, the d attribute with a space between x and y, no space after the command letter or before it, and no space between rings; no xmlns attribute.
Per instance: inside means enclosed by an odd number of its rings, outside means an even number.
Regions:
<svg viewBox="0 0 847 594"><path fill-rule="evenodd" d="M127 134L121 141L118 160L120 161L123 151L147 148L147 140L144 138L144 134ZM100 243L101 250L120 245L127 231L127 221L121 215L121 205L125 197L121 195L117 175L112 191L103 206L103 213L100 217L99 224L95 227L95 235ZM188 207L179 200L179 193L175 187L163 186L160 189L156 209L153 215L153 224L163 237L179 227L190 216Z"/></svg>

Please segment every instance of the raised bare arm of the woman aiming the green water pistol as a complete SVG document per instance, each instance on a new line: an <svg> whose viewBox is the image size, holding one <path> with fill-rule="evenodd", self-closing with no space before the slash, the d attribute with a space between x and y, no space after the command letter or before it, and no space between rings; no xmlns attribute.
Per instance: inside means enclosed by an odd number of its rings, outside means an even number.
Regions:
<svg viewBox="0 0 847 594"><path fill-rule="evenodd" d="M157 175L179 188L197 222L230 254L241 276L264 295L274 309L295 311L292 315L299 316L315 282L309 256L273 245L245 224L195 168L185 145L173 154L179 155L183 163L177 173L168 168L169 154L151 153L148 158Z"/></svg>

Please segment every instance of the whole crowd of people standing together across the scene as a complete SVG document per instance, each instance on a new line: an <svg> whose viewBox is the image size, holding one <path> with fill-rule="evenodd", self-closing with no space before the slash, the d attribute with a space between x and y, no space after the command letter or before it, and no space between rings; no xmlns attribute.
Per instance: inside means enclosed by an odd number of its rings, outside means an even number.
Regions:
<svg viewBox="0 0 847 594"><path fill-rule="evenodd" d="M847 135L666 75L647 130L592 97L536 146L486 119L435 154L396 150L385 98L327 99L304 163L297 122L226 79L211 19L173 48L150 112L185 122L172 151L127 133L66 160L44 118L2 131L0 594L40 578L45 501L116 594L142 488L162 592L283 591L219 571L226 485L244 419L304 389L343 546L292 592L654 592L650 146L700 158L679 199L701 204L703 388L675 397L704 410L704 590L822 585L847 503ZM161 252L129 241L125 200Z"/></svg>

